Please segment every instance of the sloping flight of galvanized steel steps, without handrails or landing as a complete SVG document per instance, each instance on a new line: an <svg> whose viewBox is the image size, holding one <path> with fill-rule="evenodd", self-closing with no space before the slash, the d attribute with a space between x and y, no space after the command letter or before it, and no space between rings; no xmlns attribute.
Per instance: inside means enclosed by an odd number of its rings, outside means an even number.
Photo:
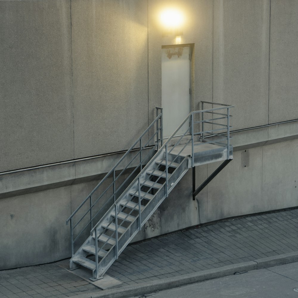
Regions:
<svg viewBox="0 0 298 298"><path fill-rule="evenodd" d="M186 157L167 154L166 158L165 150L157 154L93 228L71 258L70 269L80 265L92 270L92 280L102 277L187 170Z"/></svg>

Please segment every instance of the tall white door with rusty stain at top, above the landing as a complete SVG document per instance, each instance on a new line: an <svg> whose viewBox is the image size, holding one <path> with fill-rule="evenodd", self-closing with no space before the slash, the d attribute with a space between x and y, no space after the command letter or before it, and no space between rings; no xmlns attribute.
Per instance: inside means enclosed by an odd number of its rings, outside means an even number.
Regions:
<svg viewBox="0 0 298 298"><path fill-rule="evenodd" d="M162 48L163 137L167 138L190 113L190 47ZM187 121L176 133L183 135Z"/></svg>

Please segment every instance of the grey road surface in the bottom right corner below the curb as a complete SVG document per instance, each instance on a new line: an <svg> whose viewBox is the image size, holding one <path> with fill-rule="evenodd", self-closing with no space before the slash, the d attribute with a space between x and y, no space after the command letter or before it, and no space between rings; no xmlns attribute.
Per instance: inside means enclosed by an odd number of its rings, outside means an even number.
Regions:
<svg viewBox="0 0 298 298"><path fill-rule="evenodd" d="M140 298L298 298L298 262L208 280ZM133 297L132 297L133 298Z"/></svg>

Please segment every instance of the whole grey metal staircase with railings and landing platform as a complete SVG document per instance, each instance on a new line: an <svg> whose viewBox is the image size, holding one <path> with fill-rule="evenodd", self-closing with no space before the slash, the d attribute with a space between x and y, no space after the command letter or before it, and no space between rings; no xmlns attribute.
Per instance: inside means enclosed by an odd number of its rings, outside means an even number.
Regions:
<svg viewBox="0 0 298 298"><path fill-rule="evenodd" d="M219 105L208 102L202 102L202 105L204 103ZM229 144L231 117L229 109L232 107L220 105L216 108L191 112L164 144L162 109L157 108L156 119L67 219L66 223L70 221L71 224L72 239L70 269L84 266L92 271L91 280L102 278L189 168L232 159L232 146ZM223 113L223 110L226 110L226 113ZM204 119L206 114L211 114L211 117ZM189 123L188 129L183 135L176 136L184 123ZM152 134L155 124L156 132ZM150 138L149 132L152 135ZM148 141L142 145L144 136L148 136ZM155 137L155 144L150 145ZM138 143L139 148L134 149ZM130 155L134 157L125 167L121 166ZM151 159L148 161L149 157ZM139 162L134 164L136 158ZM145 167L143 164L146 164ZM122 170L118 170L119 168ZM121 180L120 177L127 176L125 173L128 169L133 170L126 179ZM94 201L94 193L109 179L110 181L113 179L112 182ZM124 181L119 183L121 185L117 188L116 181L119 179ZM110 197L106 196L109 189L113 189ZM106 200L101 208L98 207L100 199ZM87 208L86 205L90 207ZM77 219L78 213L84 208L83 216ZM74 224L75 218L76 224ZM93 222L97 223L93 226ZM74 230L79 225L83 226L83 229L74 235ZM90 235L86 236L87 239L74 253L74 243L82 238L83 231L88 227Z"/></svg>

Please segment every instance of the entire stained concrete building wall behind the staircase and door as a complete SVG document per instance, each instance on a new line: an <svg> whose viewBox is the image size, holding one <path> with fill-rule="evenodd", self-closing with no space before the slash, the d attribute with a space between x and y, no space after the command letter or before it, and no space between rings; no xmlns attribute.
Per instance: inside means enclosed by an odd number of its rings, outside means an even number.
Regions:
<svg viewBox="0 0 298 298"><path fill-rule="evenodd" d="M161 105L161 48L177 44L157 19L169 3L187 15L192 109L236 106L234 160L195 201L188 171L135 240L298 205L298 121L280 123L298 119L296 1L4 0L0 269L70 255L66 218ZM197 167L196 186L216 166Z"/></svg>

